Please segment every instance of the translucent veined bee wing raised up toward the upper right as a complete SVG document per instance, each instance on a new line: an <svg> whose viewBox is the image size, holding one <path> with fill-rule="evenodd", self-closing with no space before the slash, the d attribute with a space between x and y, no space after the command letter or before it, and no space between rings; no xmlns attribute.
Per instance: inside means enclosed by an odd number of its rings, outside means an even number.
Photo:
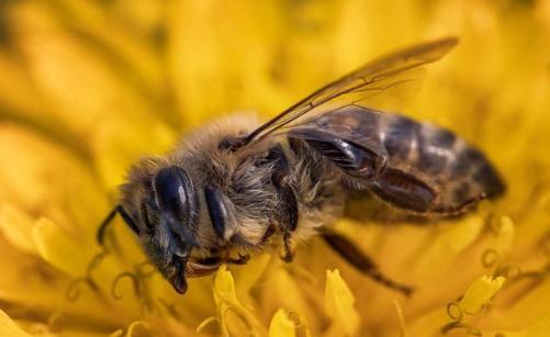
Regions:
<svg viewBox="0 0 550 337"><path fill-rule="evenodd" d="M407 101L419 88L418 79L425 74L423 66L441 58L457 42L454 37L437 40L377 58L265 123L242 146L345 106L395 108L392 103Z"/></svg>

